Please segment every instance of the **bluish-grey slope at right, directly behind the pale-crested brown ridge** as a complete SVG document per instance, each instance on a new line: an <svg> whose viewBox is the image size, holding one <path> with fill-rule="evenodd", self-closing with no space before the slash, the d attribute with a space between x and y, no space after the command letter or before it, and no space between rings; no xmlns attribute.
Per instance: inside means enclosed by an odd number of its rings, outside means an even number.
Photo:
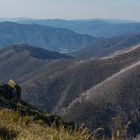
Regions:
<svg viewBox="0 0 140 140"><path fill-rule="evenodd" d="M129 48L140 43L140 34L130 34L109 39L100 40L88 47L74 51L69 55L79 59L105 57L117 50Z"/></svg>

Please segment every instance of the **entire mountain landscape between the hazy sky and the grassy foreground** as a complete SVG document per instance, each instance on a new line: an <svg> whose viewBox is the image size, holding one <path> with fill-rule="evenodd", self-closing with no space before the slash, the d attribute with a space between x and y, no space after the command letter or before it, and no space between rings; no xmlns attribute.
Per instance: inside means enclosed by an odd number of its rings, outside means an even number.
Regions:
<svg viewBox="0 0 140 140"><path fill-rule="evenodd" d="M125 125L135 117L139 120L139 23L16 22L22 24L0 23L0 79L17 81L23 100L78 126L84 123L90 130L112 126L114 117ZM104 38L83 34L87 28Z"/></svg>

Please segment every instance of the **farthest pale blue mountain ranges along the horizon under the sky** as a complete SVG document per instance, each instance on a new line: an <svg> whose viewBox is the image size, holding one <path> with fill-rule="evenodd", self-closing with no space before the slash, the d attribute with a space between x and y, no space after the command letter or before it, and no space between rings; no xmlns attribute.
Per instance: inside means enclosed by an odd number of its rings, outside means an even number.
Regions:
<svg viewBox="0 0 140 140"><path fill-rule="evenodd" d="M5 19L6 20L6 19ZM10 20L10 19L7 19ZM129 20L109 19L85 19L85 20L63 20L63 19L11 19L18 23L39 24L57 28L66 28L81 34L89 34L94 37L114 37L130 33L140 33L140 23Z"/></svg>

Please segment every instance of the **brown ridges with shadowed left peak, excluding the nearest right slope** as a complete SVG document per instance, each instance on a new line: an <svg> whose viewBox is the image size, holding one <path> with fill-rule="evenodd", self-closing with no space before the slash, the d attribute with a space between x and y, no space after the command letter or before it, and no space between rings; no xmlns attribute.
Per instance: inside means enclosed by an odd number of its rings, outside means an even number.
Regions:
<svg viewBox="0 0 140 140"><path fill-rule="evenodd" d="M48 112L59 112L83 92L136 63L140 57L136 47L116 57L81 61L59 54L60 58L50 60L37 57L42 53L31 55L30 47L17 45L0 50L1 80L18 81L23 89L22 98Z"/></svg>

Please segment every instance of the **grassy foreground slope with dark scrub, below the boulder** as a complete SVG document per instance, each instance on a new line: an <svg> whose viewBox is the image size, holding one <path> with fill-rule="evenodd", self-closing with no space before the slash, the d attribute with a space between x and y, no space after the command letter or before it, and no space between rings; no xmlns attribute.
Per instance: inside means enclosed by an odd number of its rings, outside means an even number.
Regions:
<svg viewBox="0 0 140 140"><path fill-rule="evenodd" d="M0 100L0 105L2 102ZM0 109L2 140L132 140L132 137L127 137L128 126L123 126L120 118L114 118L115 127L110 132L110 137L106 138L104 128L98 128L90 134L84 127L72 128L71 124L64 122L59 116L42 113L23 101L8 102L7 107ZM131 125L129 131L133 133L130 129L134 123L129 122L128 125Z"/></svg>

